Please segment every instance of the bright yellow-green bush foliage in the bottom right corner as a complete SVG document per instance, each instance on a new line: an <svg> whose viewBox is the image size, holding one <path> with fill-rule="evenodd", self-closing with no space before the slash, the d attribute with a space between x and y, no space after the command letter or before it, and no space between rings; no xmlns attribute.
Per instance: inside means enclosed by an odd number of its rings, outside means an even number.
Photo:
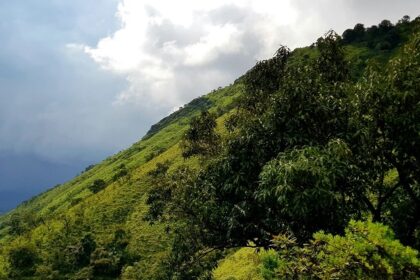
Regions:
<svg viewBox="0 0 420 280"><path fill-rule="evenodd" d="M262 266L276 279L417 279L420 275L418 252L403 246L392 230L379 223L350 221L344 236L321 231L303 247L287 236L277 237L275 243L278 256L263 258Z"/></svg>

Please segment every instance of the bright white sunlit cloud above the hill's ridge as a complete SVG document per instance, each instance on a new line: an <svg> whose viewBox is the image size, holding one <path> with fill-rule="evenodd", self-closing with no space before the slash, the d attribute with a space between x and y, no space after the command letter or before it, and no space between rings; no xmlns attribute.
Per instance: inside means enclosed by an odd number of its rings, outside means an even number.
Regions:
<svg viewBox="0 0 420 280"><path fill-rule="evenodd" d="M119 30L85 47L101 67L126 75L116 103L173 108L272 55L297 11L290 0L122 0L117 17Z"/></svg>

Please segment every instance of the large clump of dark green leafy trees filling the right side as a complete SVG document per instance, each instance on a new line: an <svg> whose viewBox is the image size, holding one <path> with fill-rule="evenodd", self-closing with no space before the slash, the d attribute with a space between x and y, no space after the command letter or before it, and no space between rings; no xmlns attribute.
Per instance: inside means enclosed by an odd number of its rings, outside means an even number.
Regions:
<svg viewBox="0 0 420 280"><path fill-rule="evenodd" d="M360 81L349 76L338 35L315 46L315 59L289 63L281 48L249 71L223 148L198 173L179 170L153 192L165 198L159 213L178 221L169 266L179 277L211 267L217 250L271 247L279 232L304 243L368 216L418 246L419 37ZM213 124L193 120L185 156L206 160L220 149L206 136Z"/></svg>

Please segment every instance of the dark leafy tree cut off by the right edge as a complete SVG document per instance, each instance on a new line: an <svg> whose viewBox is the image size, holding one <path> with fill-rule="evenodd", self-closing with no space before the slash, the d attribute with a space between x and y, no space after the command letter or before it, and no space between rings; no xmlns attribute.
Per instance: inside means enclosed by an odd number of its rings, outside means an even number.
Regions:
<svg viewBox="0 0 420 280"><path fill-rule="evenodd" d="M351 121L355 133L349 139L364 172L364 200L374 219L392 225L398 238L416 248L420 222L419 55L417 35L388 67L366 72L356 86L358 109ZM394 179L389 180L390 176ZM372 195L374 202L368 199Z"/></svg>

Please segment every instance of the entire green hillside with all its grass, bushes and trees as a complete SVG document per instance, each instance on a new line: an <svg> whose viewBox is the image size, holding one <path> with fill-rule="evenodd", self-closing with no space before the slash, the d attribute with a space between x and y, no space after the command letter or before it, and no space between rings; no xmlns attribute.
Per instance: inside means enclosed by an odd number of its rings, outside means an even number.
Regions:
<svg viewBox="0 0 420 280"><path fill-rule="evenodd" d="M281 47L0 218L0 279L418 279L420 18Z"/></svg>

